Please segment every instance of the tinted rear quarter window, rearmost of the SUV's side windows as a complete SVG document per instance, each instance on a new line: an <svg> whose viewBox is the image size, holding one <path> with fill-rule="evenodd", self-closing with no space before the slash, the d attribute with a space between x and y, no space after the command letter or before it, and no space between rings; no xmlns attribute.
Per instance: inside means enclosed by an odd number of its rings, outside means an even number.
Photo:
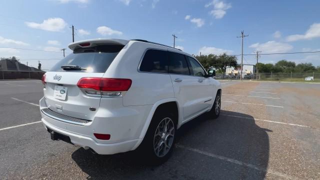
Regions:
<svg viewBox="0 0 320 180"><path fill-rule="evenodd" d="M140 64L140 71L167 73L167 55L165 50L148 49Z"/></svg>

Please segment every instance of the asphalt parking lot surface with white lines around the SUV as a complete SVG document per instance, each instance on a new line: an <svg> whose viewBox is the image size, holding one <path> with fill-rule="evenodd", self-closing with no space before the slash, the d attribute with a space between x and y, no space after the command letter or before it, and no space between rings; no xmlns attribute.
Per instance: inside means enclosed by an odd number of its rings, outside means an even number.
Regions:
<svg viewBox="0 0 320 180"><path fill-rule="evenodd" d="M52 141L40 80L0 81L0 179L320 179L320 84L221 81L217 119L183 125L170 159Z"/></svg>

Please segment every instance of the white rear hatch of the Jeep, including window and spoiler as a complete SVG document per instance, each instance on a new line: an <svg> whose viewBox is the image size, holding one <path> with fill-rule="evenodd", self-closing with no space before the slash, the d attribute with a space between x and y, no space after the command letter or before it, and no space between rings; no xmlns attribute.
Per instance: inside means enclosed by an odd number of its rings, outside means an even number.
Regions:
<svg viewBox="0 0 320 180"><path fill-rule="evenodd" d="M82 77L101 78L125 43L81 42L70 44L73 52L45 73L44 97L48 108L71 117L93 120L100 98L94 89L77 83ZM94 110L95 109L95 110Z"/></svg>

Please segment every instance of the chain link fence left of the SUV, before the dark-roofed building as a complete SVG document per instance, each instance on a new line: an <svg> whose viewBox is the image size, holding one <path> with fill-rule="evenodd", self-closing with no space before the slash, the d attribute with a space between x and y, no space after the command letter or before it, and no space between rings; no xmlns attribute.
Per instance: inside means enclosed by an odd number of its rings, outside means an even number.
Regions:
<svg viewBox="0 0 320 180"><path fill-rule="evenodd" d="M0 80L6 79L41 79L44 71L0 70Z"/></svg>

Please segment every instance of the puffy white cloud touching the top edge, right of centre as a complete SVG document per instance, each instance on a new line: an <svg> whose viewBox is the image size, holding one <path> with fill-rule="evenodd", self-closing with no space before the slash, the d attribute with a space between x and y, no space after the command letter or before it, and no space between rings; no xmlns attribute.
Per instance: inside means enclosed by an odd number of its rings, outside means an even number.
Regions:
<svg viewBox="0 0 320 180"><path fill-rule="evenodd" d="M209 11L209 14L211 14L214 18L219 19L222 18L225 13L226 9L231 8L231 3L225 3L220 0L212 0L211 2L204 5L205 7L213 6L213 9Z"/></svg>

